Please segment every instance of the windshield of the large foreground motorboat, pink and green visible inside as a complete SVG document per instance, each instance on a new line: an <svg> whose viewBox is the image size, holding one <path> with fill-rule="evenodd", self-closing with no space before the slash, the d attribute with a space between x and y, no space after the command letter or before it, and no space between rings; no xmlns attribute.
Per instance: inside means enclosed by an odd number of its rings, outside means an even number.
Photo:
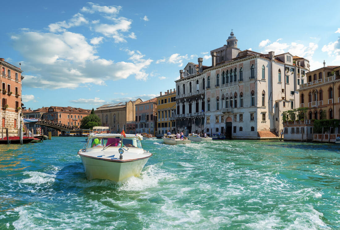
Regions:
<svg viewBox="0 0 340 230"><path fill-rule="evenodd" d="M92 138L87 143L86 148L104 148L106 146L110 147L120 147L120 141L123 139L123 145L128 148L138 148L142 149L142 143L137 138L120 138L120 137L97 137Z"/></svg>

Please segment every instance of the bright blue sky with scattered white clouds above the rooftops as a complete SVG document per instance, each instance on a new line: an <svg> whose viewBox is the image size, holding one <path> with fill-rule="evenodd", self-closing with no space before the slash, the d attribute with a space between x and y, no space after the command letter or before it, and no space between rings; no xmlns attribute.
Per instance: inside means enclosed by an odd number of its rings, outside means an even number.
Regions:
<svg viewBox="0 0 340 230"><path fill-rule="evenodd" d="M0 58L26 108L159 96L188 62L211 65L231 29L241 50L340 65L340 1L4 1ZM5 10L8 9L8 10Z"/></svg>

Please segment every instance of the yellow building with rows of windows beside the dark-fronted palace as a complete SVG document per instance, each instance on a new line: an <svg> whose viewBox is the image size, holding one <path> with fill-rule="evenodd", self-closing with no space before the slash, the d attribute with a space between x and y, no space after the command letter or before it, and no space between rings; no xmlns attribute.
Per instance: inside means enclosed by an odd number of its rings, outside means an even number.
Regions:
<svg viewBox="0 0 340 230"><path fill-rule="evenodd" d="M163 136L170 130L171 133L176 131L176 91L175 89L167 92L160 92L157 98L157 135Z"/></svg>

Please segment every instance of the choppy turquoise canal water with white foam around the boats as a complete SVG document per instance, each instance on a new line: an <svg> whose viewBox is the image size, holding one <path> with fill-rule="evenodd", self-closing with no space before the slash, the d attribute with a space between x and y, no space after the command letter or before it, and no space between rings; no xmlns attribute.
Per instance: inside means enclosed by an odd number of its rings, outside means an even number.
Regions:
<svg viewBox="0 0 340 230"><path fill-rule="evenodd" d="M85 138L0 146L0 229L340 229L340 148L143 141L124 183L86 180Z"/></svg>

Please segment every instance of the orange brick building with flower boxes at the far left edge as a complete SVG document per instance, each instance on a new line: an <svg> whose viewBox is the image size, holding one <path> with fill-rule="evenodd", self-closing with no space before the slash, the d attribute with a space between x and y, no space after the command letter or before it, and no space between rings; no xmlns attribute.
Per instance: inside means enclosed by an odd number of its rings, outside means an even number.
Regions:
<svg viewBox="0 0 340 230"><path fill-rule="evenodd" d="M20 68L0 58L0 125L2 128L8 128L9 136L18 136L20 126L21 81L23 79L21 73Z"/></svg>

